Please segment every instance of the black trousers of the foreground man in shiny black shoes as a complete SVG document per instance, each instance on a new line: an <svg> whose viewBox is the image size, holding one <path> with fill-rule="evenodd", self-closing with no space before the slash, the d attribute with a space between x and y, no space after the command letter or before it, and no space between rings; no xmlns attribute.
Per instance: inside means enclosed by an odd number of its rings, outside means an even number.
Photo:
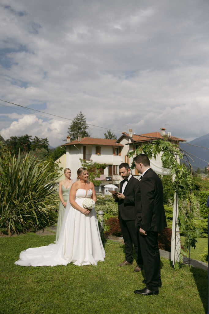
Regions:
<svg viewBox="0 0 209 314"><path fill-rule="evenodd" d="M146 233L147 236L142 236L139 233L139 243L147 282L146 286L149 290L157 291L158 287L161 286L158 233L154 231L147 231Z"/></svg>

